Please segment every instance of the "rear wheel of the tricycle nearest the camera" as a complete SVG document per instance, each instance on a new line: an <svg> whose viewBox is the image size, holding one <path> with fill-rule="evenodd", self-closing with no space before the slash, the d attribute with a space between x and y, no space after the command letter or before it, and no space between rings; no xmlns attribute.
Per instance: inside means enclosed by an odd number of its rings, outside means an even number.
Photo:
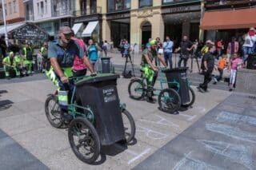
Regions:
<svg viewBox="0 0 256 170"><path fill-rule="evenodd" d="M58 105L56 97L53 94L46 98L45 112L50 125L54 126L55 128L60 128L62 126L61 109Z"/></svg>

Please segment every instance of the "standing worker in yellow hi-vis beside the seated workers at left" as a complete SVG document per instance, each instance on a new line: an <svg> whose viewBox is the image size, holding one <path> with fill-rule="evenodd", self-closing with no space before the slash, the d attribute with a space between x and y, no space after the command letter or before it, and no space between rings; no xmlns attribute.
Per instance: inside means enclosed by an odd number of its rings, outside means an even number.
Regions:
<svg viewBox="0 0 256 170"><path fill-rule="evenodd" d="M27 73L28 74L34 73L33 49L30 47L28 43L26 43L25 47L22 49L22 57L26 65Z"/></svg>

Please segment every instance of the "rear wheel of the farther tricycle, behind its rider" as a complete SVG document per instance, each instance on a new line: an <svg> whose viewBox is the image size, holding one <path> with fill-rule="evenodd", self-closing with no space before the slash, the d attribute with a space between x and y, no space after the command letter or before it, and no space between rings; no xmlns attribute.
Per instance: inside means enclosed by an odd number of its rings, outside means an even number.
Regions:
<svg viewBox="0 0 256 170"><path fill-rule="evenodd" d="M128 85L128 93L130 98L134 100L141 100L143 97L145 97L145 86L146 85L144 85L144 83L139 79L130 81L130 84Z"/></svg>

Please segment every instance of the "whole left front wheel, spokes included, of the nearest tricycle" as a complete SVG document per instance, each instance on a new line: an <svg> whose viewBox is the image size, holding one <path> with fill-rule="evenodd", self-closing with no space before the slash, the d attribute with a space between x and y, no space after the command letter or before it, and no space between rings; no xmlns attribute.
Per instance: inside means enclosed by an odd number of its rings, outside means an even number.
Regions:
<svg viewBox="0 0 256 170"><path fill-rule="evenodd" d="M90 121L77 117L70 123L68 129L70 146L79 160L92 164L100 154L100 140Z"/></svg>

